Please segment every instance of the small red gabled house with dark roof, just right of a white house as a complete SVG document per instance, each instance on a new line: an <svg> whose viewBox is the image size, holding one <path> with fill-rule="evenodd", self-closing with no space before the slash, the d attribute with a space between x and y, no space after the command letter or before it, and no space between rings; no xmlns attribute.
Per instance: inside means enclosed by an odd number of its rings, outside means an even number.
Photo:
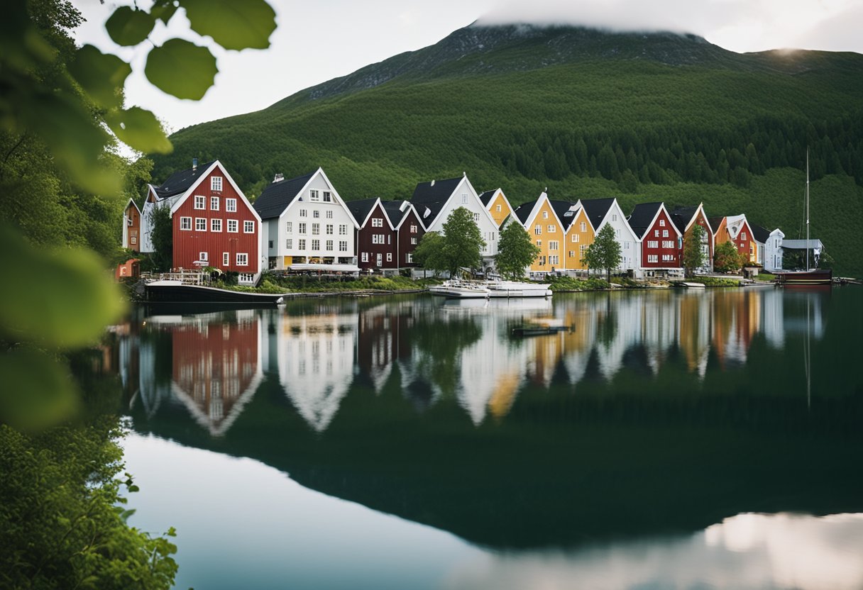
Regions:
<svg viewBox="0 0 863 590"><path fill-rule="evenodd" d="M639 239L641 269L646 277L682 273L683 234L672 223L665 204L638 204L628 222Z"/></svg>

